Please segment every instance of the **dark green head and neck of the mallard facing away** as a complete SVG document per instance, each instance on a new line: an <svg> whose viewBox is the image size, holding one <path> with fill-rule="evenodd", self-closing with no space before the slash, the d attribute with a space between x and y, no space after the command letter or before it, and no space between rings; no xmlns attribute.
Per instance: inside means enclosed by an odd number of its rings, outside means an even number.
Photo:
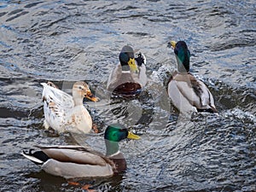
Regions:
<svg viewBox="0 0 256 192"><path fill-rule="evenodd" d="M171 41L172 48L177 60L177 72L188 73L189 72L189 60L190 52L187 44L184 41Z"/></svg>

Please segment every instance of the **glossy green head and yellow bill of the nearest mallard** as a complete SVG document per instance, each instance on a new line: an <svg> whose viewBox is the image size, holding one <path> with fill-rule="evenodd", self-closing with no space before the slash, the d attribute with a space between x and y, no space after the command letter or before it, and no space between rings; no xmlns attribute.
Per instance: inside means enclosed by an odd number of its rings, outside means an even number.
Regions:
<svg viewBox="0 0 256 192"><path fill-rule="evenodd" d="M108 125L104 138L111 142L119 142L125 138L139 139L140 137L128 131L124 125Z"/></svg>

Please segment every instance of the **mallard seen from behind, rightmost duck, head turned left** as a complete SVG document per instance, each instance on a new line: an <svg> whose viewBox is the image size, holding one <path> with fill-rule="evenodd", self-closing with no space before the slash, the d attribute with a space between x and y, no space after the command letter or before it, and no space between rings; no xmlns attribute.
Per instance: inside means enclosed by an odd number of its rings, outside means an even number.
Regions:
<svg viewBox="0 0 256 192"><path fill-rule="evenodd" d="M174 106L182 113L217 112L207 85L189 73L190 52L184 41L171 41L177 59L177 72L168 83L168 94Z"/></svg>

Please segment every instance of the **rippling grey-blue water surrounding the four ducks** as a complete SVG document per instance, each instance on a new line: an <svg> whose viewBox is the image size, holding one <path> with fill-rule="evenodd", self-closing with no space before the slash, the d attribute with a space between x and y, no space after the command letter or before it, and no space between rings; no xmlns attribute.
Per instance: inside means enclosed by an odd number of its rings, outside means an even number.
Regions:
<svg viewBox="0 0 256 192"><path fill-rule="evenodd" d="M99 191L256 191L255 1L2 1L0 3L1 191L81 191L20 152L73 144L43 128L41 82L85 80L101 102L84 102L100 130L131 126L120 143L128 169L87 179ZM175 69L170 40L185 40L192 73L212 91L217 114L182 117L166 96ZM106 94L125 44L147 59L148 85L134 100ZM67 89L65 89L67 90ZM70 90L67 90L70 91ZM104 151L102 134L86 142Z"/></svg>

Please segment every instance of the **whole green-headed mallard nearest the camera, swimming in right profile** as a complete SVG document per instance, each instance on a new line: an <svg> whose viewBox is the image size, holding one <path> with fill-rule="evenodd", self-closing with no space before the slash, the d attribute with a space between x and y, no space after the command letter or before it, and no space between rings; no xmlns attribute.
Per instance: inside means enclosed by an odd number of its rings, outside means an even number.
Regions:
<svg viewBox="0 0 256 192"><path fill-rule="evenodd" d="M124 155L119 151L119 142L125 138L140 137L123 125L109 125L104 134L106 155L82 146L37 146L41 150L21 153L38 164L45 172L65 178L111 177L126 169Z"/></svg>

